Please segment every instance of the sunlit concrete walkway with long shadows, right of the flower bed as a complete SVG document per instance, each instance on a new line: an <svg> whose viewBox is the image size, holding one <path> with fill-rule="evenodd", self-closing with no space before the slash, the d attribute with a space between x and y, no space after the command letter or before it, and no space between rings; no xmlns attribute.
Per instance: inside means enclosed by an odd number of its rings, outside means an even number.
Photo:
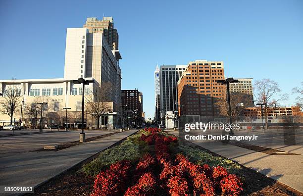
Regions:
<svg viewBox="0 0 303 196"><path fill-rule="evenodd" d="M179 135L178 131L166 131L176 136ZM221 142L215 140L191 140L190 142L303 192L302 153L300 155L269 155L229 144L222 145ZM300 145L288 147L300 149L300 152L302 152L303 146Z"/></svg>

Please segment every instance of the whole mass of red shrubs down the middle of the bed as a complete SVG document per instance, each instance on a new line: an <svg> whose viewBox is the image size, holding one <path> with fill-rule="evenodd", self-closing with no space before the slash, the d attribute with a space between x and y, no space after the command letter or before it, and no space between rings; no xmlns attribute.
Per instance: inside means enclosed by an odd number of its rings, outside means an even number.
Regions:
<svg viewBox="0 0 303 196"><path fill-rule="evenodd" d="M112 164L96 177L92 196L214 196L215 193L238 196L243 191L240 179L236 175L229 175L222 166L200 166L190 162L183 154L177 154L175 160L171 160L168 145L177 144L178 139L160 135L157 128L146 131L149 132L148 136L142 134L140 140L154 144L155 157L144 154L133 168L132 178L129 178L129 161ZM158 185L153 173L158 172L157 164L160 166ZM129 184L133 186L127 189L126 185ZM155 193L155 190L159 193Z"/></svg>

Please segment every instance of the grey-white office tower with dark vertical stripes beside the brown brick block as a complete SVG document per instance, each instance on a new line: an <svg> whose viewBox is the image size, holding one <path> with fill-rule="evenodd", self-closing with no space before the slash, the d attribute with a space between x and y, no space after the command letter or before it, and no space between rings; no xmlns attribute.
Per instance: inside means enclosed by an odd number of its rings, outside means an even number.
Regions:
<svg viewBox="0 0 303 196"><path fill-rule="evenodd" d="M186 69L186 65L162 65L159 70L160 110L161 117L167 111L178 109L178 80Z"/></svg>

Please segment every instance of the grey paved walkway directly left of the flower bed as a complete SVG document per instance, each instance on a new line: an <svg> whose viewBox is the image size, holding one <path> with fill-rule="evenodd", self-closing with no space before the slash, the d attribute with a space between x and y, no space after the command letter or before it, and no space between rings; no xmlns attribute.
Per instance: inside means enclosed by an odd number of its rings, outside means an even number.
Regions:
<svg viewBox="0 0 303 196"><path fill-rule="evenodd" d="M117 133L59 151L25 152L0 158L0 185L37 187L136 131Z"/></svg>

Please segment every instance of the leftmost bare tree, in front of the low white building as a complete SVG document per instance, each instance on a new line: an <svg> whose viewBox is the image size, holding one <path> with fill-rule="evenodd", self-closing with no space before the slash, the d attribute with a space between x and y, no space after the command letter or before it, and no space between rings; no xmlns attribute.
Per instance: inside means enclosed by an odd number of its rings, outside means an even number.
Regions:
<svg viewBox="0 0 303 196"><path fill-rule="evenodd" d="M4 99L0 102L0 113L10 116L10 124L13 121L14 113L17 113L21 109L21 101L23 96L21 95L21 87L17 85L6 85L4 93Z"/></svg>

